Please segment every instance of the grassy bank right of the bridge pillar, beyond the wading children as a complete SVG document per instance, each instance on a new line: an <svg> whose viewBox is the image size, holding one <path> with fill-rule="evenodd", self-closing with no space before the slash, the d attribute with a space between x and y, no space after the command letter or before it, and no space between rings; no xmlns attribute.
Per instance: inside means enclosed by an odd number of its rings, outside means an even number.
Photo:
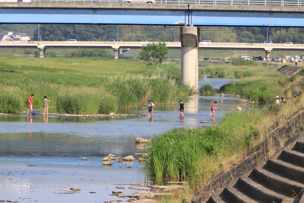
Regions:
<svg viewBox="0 0 304 203"><path fill-rule="evenodd" d="M259 63L256 66L233 66L233 65L214 65L207 63L200 67L200 73L210 74L212 78L240 78L240 82L231 82L217 90L220 93L245 94L248 99L253 101L268 102L272 101L276 95L286 94L285 85L289 82L276 69L264 66ZM201 94L208 94L206 87L202 86Z"/></svg>

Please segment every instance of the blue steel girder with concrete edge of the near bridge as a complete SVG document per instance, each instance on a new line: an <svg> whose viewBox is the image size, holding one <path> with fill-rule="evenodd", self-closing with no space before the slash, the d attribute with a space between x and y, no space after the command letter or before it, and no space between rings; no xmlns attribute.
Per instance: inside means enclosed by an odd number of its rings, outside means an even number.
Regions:
<svg viewBox="0 0 304 203"><path fill-rule="evenodd" d="M0 3L0 23L304 27L304 7Z"/></svg>

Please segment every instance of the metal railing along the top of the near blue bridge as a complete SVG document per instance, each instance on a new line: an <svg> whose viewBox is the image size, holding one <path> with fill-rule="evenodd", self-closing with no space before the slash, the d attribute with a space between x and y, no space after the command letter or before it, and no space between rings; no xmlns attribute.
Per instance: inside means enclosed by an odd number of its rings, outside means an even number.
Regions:
<svg viewBox="0 0 304 203"><path fill-rule="evenodd" d="M120 3L121 0L31 0L31 2ZM140 2L137 1L136 3L140 3ZM156 0L155 2L161 4L270 5L270 6L304 5L304 0L247 0L247 1L245 0Z"/></svg>

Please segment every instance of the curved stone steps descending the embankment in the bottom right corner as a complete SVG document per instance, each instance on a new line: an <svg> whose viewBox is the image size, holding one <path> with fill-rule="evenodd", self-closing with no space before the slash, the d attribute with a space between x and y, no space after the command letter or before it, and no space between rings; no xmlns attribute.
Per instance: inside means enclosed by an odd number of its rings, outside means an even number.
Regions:
<svg viewBox="0 0 304 203"><path fill-rule="evenodd" d="M284 149L207 203L304 203L304 140Z"/></svg>

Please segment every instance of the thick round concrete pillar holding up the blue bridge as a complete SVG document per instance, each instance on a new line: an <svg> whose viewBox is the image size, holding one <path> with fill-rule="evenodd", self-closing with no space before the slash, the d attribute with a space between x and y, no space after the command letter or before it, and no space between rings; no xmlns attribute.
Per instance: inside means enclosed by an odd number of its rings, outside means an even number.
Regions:
<svg viewBox="0 0 304 203"><path fill-rule="evenodd" d="M181 81L199 92L199 28L181 27Z"/></svg>

